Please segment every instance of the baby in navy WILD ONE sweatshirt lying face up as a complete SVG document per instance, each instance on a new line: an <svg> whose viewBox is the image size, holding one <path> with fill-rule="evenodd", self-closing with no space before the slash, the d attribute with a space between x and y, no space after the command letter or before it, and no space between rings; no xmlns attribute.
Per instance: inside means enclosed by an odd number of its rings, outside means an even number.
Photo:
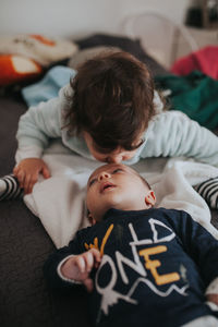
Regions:
<svg viewBox="0 0 218 327"><path fill-rule="evenodd" d="M148 183L121 164L92 173L86 202L92 227L45 264L52 288L84 284L94 326L218 326L218 241L207 230L154 208Z"/></svg>

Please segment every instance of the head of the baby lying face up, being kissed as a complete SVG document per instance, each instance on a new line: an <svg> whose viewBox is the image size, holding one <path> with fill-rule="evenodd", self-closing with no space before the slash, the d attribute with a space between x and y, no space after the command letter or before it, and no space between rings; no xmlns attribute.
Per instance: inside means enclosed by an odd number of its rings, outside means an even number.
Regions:
<svg viewBox="0 0 218 327"><path fill-rule="evenodd" d="M155 202L149 184L129 166L104 165L88 179L86 203L93 223L100 221L110 208L143 210L153 207Z"/></svg>

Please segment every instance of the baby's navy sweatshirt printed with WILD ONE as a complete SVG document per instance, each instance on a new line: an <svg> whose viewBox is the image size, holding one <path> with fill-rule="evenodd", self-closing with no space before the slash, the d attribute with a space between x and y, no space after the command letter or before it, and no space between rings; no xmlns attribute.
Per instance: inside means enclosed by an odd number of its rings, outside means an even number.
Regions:
<svg viewBox="0 0 218 327"><path fill-rule="evenodd" d="M60 263L95 246L102 254L93 269L94 326L175 327L217 315L205 290L218 277L218 241L181 210L109 209L101 222L80 230L69 246L50 255L45 276L52 288L72 289Z"/></svg>

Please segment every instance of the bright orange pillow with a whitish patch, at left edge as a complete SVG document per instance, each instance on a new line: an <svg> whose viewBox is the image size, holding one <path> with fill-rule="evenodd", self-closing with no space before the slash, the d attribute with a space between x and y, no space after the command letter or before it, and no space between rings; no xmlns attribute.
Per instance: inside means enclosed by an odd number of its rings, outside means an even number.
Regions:
<svg viewBox="0 0 218 327"><path fill-rule="evenodd" d="M0 86L8 86L39 76L43 68L29 58L16 55L0 56Z"/></svg>

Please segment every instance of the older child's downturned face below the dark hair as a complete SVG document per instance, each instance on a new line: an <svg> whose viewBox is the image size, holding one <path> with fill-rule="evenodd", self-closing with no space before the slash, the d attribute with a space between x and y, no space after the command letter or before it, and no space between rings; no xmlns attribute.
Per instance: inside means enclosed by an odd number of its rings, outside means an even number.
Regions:
<svg viewBox="0 0 218 327"><path fill-rule="evenodd" d="M134 155L137 150L137 148L134 150L125 150L121 147L118 147L117 149L114 149L111 153L102 154L96 149L94 140L87 132L83 132L83 136L84 136L84 140L86 142L86 145L87 145L92 156L94 158L96 158L96 160L101 161L101 162L120 164L122 161L129 160L132 157L134 157ZM136 144L140 144L140 145L142 144L141 137L138 137L138 140L136 141Z"/></svg>

